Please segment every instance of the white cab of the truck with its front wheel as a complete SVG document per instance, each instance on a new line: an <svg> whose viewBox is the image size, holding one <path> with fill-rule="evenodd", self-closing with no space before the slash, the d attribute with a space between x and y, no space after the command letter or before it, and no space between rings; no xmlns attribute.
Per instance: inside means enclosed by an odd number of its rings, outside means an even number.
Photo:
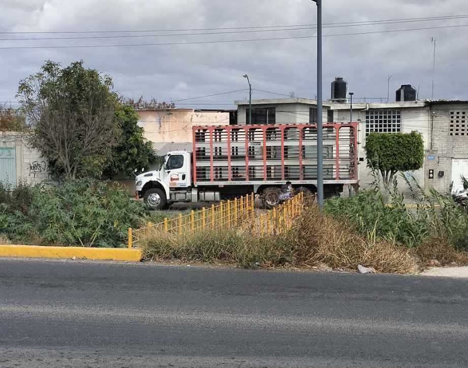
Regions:
<svg viewBox="0 0 468 368"><path fill-rule="evenodd" d="M192 154L171 151L157 170L135 178L136 197L143 198L151 209L163 209L169 202L191 201Z"/></svg>

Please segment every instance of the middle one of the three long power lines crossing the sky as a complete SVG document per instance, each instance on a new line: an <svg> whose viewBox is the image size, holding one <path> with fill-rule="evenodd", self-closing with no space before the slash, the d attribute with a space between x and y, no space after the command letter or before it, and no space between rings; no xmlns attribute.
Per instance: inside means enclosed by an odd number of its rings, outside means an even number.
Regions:
<svg viewBox="0 0 468 368"><path fill-rule="evenodd" d="M415 22L427 22L436 20L452 20L452 19L465 19L466 16L456 17L433 17L424 19L402 19L402 20L391 20L391 21L368 21L360 22L356 24L330 24L324 25L324 28L336 28L336 27L354 27L354 26L368 26L368 25L385 25L385 24L401 24L401 23L415 23ZM288 30L310 30L317 29L315 25L301 25L297 28L291 28L292 26L278 27L276 29L251 29L251 30L231 30L227 32L204 32L204 33L177 33L177 34L159 34L159 35L118 35L118 36L80 36L80 37L34 37L34 38L2 38L0 41L36 41L36 40L88 40L88 39L113 39L113 38L141 38L141 37L171 37L171 36L203 36L203 35L224 35L224 34L240 34L240 33L258 33L258 32L284 32ZM138 31L135 31L138 32ZM157 32L157 31L147 31ZM162 31L159 31L162 32ZM124 33L124 31L122 32Z"/></svg>

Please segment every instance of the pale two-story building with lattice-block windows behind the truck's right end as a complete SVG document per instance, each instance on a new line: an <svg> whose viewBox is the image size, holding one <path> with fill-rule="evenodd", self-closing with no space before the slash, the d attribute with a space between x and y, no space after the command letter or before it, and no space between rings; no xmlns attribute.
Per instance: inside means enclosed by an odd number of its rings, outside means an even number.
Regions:
<svg viewBox="0 0 468 368"><path fill-rule="evenodd" d="M397 91L397 100L403 98L403 87ZM401 94L400 94L401 92ZM400 97L401 96L401 97ZM359 102L347 98L323 103L324 122L359 122L358 160L360 187L366 188L373 178L365 159L366 136L370 132L421 133L425 162L423 168L412 172L423 187L448 190L461 187L460 175L468 177L468 102L418 101L416 94L410 101ZM246 124L248 102L235 101L237 121ZM300 124L317 122L317 101L302 98L253 100L252 124ZM407 173L409 174L409 173Z"/></svg>

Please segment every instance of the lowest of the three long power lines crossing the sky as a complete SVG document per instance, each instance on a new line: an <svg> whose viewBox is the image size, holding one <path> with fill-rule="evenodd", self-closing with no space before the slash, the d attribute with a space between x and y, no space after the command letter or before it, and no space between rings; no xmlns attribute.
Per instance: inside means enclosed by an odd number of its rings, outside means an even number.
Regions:
<svg viewBox="0 0 468 368"><path fill-rule="evenodd" d="M336 37L336 36L357 36L357 35L371 35L380 33L394 33L394 32L409 32L413 30L428 30L428 29L442 29L442 28L455 28L455 27L468 27L468 24L459 25L444 25L438 27L424 27L424 28L409 28L409 29L387 29L377 30L374 32L356 32L356 33L342 33L333 35L323 35L323 37ZM19 50L19 49L63 49L63 48L99 48L99 47L135 47L135 46L173 46L173 45L196 45L196 44L216 44L216 43L235 43L235 42L253 42L253 41L279 41L279 40L298 40L317 38L317 36L296 36L296 37L277 37L277 38L260 38L260 39L247 39L247 40L219 40L219 41L187 41L187 42L164 42L164 43L146 43L146 44L126 44L126 45L64 45L64 46L13 46L13 47L0 47L0 50Z"/></svg>

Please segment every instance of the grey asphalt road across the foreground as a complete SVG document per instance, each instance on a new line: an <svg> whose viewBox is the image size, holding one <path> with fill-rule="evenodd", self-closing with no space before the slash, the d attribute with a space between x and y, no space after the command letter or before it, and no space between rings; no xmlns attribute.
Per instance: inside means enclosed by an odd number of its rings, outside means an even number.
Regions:
<svg viewBox="0 0 468 368"><path fill-rule="evenodd" d="M0 366L468 366L468 281L3 259Z"/></svg>

